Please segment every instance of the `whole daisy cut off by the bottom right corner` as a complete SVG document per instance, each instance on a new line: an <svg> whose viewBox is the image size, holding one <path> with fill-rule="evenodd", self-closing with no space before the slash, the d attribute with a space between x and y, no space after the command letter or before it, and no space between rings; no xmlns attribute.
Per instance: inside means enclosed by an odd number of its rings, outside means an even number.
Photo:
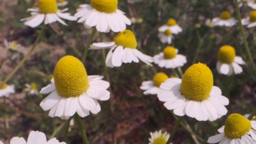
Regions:
<svg viewBox="0 0 256 144"><path fill-rule="evenodd" d="M220 134L208 138L214 144L256 144L256 121L248 120L241 114L230 114L225 126L218 129Z"/></svg>

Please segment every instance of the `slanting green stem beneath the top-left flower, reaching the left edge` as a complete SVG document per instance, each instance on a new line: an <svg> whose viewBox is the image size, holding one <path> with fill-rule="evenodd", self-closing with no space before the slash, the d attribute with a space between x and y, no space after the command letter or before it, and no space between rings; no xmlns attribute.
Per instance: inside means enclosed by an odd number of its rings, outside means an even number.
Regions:
<svg viewBox="0 0 256 144"><path fill-rule="evenodd" d="M44 32L44 28L46 27L46 25L44 24L40 30L40 33L38 35L38 37L36 38L35 43L33 44L33 46L30 48L30 50L28 51L28 53L26 54L26 56L20 61L20 63L18 64L18 66L16 66L16 68L14 68L14 70L12 70L12 72L10 74L8 74L8 76L3 80L2 84L0 84L0 88L2 88L2 86L4 86L4 84L6 84L6 82L8 80L10 80L10 78L12 78L12 76L19 70L19 68L22 66L22 64L24 64L24 62L29 58L29 56L32 54L33 50L36 48L36 45L38 44L38 42L41 40L42 38L42 34Z"/></svg>

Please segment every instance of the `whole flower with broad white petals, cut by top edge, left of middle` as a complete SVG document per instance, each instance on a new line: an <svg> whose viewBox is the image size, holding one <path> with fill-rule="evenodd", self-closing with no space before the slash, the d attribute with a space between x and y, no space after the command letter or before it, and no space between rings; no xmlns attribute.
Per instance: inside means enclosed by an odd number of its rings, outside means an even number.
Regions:
<svg viewBox="0 0 256 144"><path fill-rule="evenodd" d="M117 9L117 3L118 0L91 0L90 4L80 5L75 16L86 28L96 26L99 32L121 32L131 21Z"/></svg>

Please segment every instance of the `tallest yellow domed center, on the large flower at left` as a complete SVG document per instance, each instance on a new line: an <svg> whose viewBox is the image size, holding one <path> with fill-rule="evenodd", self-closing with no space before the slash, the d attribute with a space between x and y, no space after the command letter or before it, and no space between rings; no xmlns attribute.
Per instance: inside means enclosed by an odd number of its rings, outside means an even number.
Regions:
<svg viewBox="0 0 256 144"><path fill-rule="evenodd" d="M66 98L80 96L89 86L84 65L74 56L64 56L58 61L54 82L58 94Z"/></svg>

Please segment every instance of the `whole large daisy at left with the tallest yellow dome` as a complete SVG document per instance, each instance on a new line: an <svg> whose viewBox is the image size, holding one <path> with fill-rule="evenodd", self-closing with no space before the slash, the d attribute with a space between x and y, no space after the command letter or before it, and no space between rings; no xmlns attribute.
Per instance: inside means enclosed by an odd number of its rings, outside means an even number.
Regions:
<svg viewBox="0 0 256 144"><path fill-rule="evenodd" d="M50 110L50 117L68 119L76 112L85 117L89 112L100 112L97 100L108 100L109 83L103 76L87 76L86 69L74 56L64 56L54 68L51 84L42 88L41 94L50 94L40 103L43 110Z"/></svg>

